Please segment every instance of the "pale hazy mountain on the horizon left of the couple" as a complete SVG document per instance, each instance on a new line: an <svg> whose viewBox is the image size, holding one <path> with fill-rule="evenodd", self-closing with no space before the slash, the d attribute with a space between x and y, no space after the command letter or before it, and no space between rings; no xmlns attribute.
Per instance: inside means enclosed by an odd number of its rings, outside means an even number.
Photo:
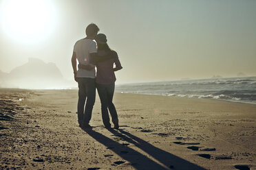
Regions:
<svg viewBox="0 0 256 170"><path fill-rule="evenodd" d="M10 73L0 72L0 87L4 88L67 88L69 84L56 64L37 58L29 58Z"/></svg>

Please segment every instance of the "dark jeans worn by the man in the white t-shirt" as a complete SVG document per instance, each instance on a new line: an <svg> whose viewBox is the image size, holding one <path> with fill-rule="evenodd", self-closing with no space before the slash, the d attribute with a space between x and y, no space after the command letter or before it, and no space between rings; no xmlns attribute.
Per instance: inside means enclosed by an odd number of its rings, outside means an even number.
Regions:
<svg viewBox="0 0 256 170"><path fill-rule="evenodd" d="M95 79L78 77L78 88L78 123L89 124L89 121L92 118L92 108L94 108L95 102Z"/></svg>

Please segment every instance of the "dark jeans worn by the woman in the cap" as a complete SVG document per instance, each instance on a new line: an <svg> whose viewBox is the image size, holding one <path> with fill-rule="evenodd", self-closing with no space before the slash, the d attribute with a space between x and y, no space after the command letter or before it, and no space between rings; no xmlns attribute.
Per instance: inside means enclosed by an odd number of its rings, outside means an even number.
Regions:
<svg viewBox="0 0 256 170"><path fill-rule="evenodd" d="M101 102L101 114L103 117L103 123L105 127L110 127L109 123L109 112L111 114L112 122L118 122L118 115L116 113L116 108L112 102L115 84L96 84L98 95L100 97ZM107 110L109 109L109 112Z"/></svg>

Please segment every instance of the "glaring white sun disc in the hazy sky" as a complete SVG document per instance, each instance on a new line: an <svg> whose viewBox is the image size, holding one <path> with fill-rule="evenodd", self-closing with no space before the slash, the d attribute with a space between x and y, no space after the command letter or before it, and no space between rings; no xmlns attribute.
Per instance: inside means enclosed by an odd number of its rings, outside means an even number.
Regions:
<svg viewBox="0 0 256 170"><path fill-rule="evenodd" d="M48 38L56 21L56 10L50 0L1 1L3 31L23 44Z"/></svg>

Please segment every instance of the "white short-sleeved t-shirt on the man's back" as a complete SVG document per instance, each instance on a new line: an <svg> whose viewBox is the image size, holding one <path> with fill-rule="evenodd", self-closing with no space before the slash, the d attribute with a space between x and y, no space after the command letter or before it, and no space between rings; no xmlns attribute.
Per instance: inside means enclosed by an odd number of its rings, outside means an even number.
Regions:
<svg viewBox="0 0 256 170"><path fill-rule="evenodd" d="M76 58L80 64L87 65L89 64L89 54L96 53L96 42L91 39L81 39L76 42L74 45L74 52L76 53ZM89 77L95 78L95 69L90 71L84 69L78 69L76 77Z"/></svg>

